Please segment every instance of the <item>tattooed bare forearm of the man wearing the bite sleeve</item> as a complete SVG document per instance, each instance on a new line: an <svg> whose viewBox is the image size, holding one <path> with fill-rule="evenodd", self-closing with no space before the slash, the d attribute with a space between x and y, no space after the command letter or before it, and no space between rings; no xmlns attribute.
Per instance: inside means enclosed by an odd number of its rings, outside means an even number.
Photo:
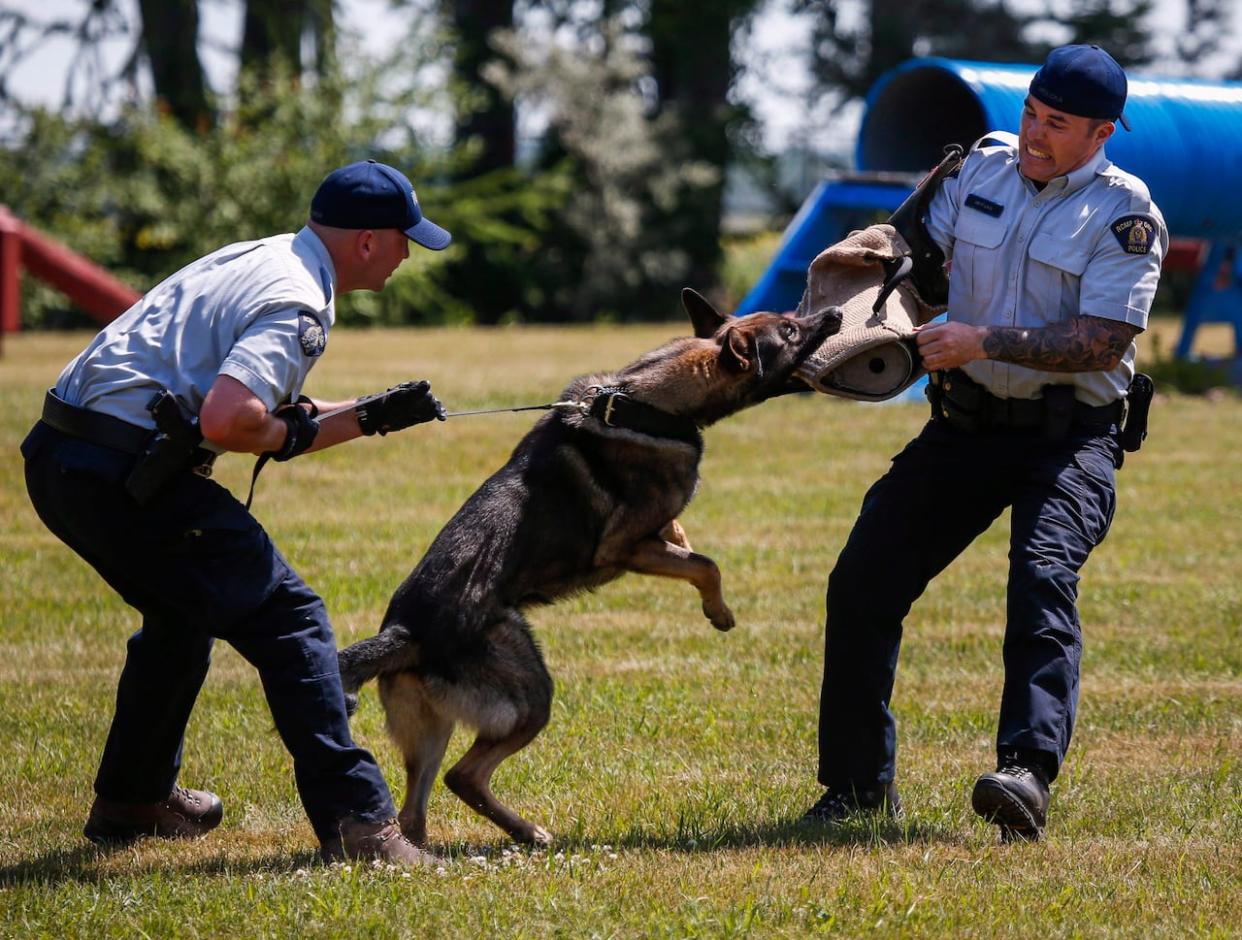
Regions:
<svg viewBox="0 0 1242 940"><path fill-rule="evenodd" d="M1093 373L1117 368L1138 332L1099 317L1072 317L1040 329L989 327L984 353L1046 373Z"/></svg>

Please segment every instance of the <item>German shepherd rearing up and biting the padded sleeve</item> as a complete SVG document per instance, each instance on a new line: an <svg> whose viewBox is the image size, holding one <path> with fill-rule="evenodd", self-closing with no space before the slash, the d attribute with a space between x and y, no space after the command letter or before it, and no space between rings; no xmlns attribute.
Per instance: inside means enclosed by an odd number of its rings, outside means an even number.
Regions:
<svg viewBox="0 0 1242 940"><path fill-rule="evenodd" d="M396 590L380 632L340 653L350 712L379 677L388 730L407 774L401 829L426 844L427 797L457 721L477 738L445 775L476 812L518 842L540 826L491 790L502 760L548 723L553 682L523 617L626 571L689 581L717 630L732 630L720 571L691 550L677 515L698 484L702 427L791 391L795 368L841 325L836 308L804 318L729 318L693 291L694 338L565 389L579 411L542 417L509 462L466 502Z"/></svg>

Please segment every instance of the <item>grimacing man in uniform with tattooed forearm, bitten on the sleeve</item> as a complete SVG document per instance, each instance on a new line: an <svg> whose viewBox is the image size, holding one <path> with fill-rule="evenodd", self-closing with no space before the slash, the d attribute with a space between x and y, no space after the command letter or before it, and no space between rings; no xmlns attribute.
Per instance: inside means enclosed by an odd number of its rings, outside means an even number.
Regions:
<svg viewBox="0 0 1242 940"><path fill-rule="evenodd" d="M997 766L971 802L1006 837L1043 831L1078 699L1078 571L1113 519L1134 338L1167 248L1146 186L1104 155L1125 94L1104 50L1053 50L1017 138L984 138L930 201L925 233L951 260L948 322L917 337L933 418L867 492L828 580L810 821L900 815L902 622L1010 508Z"/></svg>

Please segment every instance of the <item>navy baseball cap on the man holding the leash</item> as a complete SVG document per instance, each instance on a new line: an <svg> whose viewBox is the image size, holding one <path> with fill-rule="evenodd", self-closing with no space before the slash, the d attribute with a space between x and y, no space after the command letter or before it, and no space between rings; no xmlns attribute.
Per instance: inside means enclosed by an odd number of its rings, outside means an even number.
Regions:
<svg viewBox="0 0 1242 940"><path fill-rule="evenodd" d="M440 251L453 240L425 219L405 174L363 160L324 176L310 199L310 220L334 228L400 228L410 241Z"/></svg>

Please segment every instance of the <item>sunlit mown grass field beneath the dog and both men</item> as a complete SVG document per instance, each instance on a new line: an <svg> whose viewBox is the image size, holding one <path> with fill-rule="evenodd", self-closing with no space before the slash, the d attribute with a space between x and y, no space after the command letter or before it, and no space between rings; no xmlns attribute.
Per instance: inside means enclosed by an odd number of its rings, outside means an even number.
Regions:
<svg viewBox="0 0 1242 940"><path fill-rule="evenodd" d="M337 333L310 391L427 376L453 409L550 401L678 327ZM1171 324L1163 329L1171 330ZM1242 935L1242 401L1163 397L1084 572L1079 724L1048 838L1000 844L969 808L991 769L1007 526L907 623L894 695L900 825L806 832L823 586L915 405L795 396L708 432L683 517L739 627L693 589L628 576L533 616L556 700L497 791L551 829L507 844L437 786L442 872L322 867L253 671L217 647L183 782L219 792L195 843L81 837L134 613L43 530L17 445L84 335L5 338L0 359L0 934L5 936ZM1223 341L1223 338L1221 338ZM1170 348L1170 343L1165 348ZM529 415L452 420L272 464L256 513L323 595L340 642L392 589ZM245 493L250 461L217 478ZM374 688L356 736L400 798ZM467 744L460 733L450 760Z"/></svg>

